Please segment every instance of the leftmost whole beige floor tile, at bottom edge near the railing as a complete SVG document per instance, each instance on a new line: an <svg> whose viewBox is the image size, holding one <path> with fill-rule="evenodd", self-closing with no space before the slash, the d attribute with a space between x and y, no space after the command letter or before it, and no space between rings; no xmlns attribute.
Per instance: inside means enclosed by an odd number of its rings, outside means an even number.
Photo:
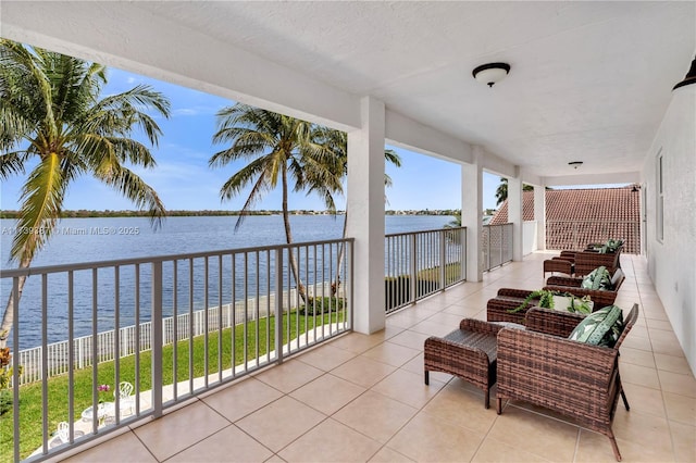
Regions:
<svg viewBox="0 0 696 463"><path fill-rule="evenodd" d="M134 433L162 461L227 426L229 421L203 402L196 402L142 425Z"/></svg>

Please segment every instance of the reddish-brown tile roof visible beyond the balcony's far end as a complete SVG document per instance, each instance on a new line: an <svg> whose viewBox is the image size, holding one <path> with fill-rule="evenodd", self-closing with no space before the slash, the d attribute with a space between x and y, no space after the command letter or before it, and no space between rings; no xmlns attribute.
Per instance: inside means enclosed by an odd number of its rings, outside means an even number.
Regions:
<svg viewBox="0 0 696 463"><path fill-rule="evenodd" d="M522 193L522 216L534 220L534 192ZM584 249L622 238L623 252L641 252L641 193L633 187L546 190L546 248ZM508 222L505 201L490 225Z"/></svg>

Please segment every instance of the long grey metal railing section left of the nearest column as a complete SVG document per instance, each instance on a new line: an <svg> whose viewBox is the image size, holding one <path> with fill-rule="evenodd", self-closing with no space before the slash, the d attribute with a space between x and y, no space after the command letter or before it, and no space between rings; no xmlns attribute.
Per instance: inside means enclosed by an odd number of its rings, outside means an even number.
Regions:
<svg viewBox="0 0 696 463"><path fill-rule="evenodd" d="M33 461L57 455L75 440L161 416L191 396L350 330L352 243L338 239L0 271L14 293L21 278L40 280L38 306L14 299L11 336L12 346L21 346L25 331L40 333L41 340L34 354L40 356L38 388L20 388L25 365L20 355L12 358L12 417L2 418L12 420L3 428L12 445L7 441L3 458L18 461L32 447L40 447ZM231 304L235 310L225 311ZM40 326L23 322L30 312L40 314ZM54 337L66 341L49 361L48 339ZM55 393L49 365L61 364L66 393L49 402L49 391ZM124 381L134 385L128 408L119 395L101 403L97 385L115 389ZM28 402L41 404L40 422L30 429L20 418ZM53 448L58 422L69 423L67 441ZM37 428L41 438L34 441Z"/></svg>

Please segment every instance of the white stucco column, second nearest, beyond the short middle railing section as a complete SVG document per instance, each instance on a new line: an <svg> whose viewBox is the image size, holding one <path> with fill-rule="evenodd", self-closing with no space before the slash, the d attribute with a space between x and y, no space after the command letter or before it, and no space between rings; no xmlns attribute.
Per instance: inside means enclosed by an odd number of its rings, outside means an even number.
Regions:
<svg viewBox="0 0 696 463"><path fill-rule="evenodd" d="M461 225L467 227L467 280L483 279L483 148L472 149L473 164L461 165Z"/></svg>

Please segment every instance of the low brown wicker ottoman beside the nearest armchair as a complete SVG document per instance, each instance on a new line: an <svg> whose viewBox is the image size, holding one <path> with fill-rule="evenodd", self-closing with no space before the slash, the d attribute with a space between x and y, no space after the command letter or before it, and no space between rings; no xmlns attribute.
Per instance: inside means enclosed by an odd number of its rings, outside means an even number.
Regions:
<svg viewBox="0 0 696 463"><path fill-rule="evenodd" d="M425 384L430 372L444 372L473 384L486 395L485 406L489 406L490 387L496 383L497 335L501 324L464 318L456 329L439 338L425 339Z"/></svg>

